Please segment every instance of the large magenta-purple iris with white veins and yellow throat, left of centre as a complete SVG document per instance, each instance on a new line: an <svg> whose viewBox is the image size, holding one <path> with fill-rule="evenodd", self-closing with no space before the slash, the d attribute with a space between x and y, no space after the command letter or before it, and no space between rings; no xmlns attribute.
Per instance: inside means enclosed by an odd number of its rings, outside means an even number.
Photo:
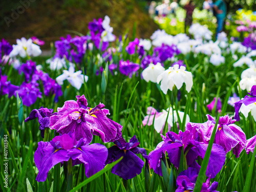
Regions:
<svg viewBox="0 0 256 192"><path fill-rule="evenodd" d="M95 108L87 106L84 95L76 96L77 101L65 101L58 113L50 117L50 129L60 134L75 133L76 140L86 138L91 143L93 135L99 136L103 142L114 142L122 135L122 125L106 117L109 110L99 103Z"/></svg>

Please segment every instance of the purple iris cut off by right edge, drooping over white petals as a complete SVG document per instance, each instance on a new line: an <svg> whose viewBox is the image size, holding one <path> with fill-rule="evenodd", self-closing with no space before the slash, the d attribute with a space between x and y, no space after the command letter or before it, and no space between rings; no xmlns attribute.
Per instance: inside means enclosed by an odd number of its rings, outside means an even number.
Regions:
<svg viewBox="0 0 256 192"><path fill-rule="evenodd" d="M245 104L247 106L251 103L256 102L256 86L252 86L251 92L248 93L248 95L246 95L243 100L234 103L234 119L236 119L237 121L240 121L239 110L242 104Z"/></svg>

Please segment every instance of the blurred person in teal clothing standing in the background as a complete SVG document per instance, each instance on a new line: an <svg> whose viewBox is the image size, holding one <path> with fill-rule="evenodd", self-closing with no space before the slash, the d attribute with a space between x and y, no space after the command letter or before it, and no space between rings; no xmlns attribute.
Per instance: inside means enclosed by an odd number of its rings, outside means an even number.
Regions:
<svg viewBox="0 0 256 192"><path fill-rule="evenodd" d="M214 4L214 15L217 18L216 36L223 30L224 20L227 15L227 7L223 0L217 0Z"/></svg>

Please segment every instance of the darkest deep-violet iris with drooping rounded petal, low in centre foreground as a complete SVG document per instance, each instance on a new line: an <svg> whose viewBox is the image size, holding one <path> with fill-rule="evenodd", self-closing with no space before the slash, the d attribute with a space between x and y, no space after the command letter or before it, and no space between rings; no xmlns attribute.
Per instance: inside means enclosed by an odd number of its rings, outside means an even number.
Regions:
<svg viewBox="0 0 256 192"><path fill-rule="evenodd" d="M125 180L139 175L144 161L135 154L140 153L145 159L148 157L144 148L137 147L140 143L136 136L133 136L128 143L122 137L114 143L115 145L108 149L109 155L108 159L106 159L106 164L112 163L121 157L123 159L112 168L111 172Z"/></svg>

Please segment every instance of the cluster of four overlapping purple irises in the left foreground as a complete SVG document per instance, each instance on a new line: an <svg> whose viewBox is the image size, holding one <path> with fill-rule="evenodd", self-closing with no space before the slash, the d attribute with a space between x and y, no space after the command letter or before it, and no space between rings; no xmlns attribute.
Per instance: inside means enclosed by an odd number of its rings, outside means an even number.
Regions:
<svg viewBox="0 0 256 192"><path fill-rule="evenodd" d="M120 157L123 159L112 168L112 173L123 179L131 179L141 173L144 161L136 154L140 153L148 159L144 148L139 148L138 139L134 136L130 142L122 138L122 125L109 119L109 110L99 103L90 108L86 97L76 96L77 100L69 100L56 113L52 109L41 107L33 110L25 122L38 118L41 136L45 129L55 130L60 136L50 142L40 141L34 159L38 168L36 180L45 181L49 170L58 163L72 160L72 165L84 164L87 177L103 169L105 164L112 163ZM103 142L114 142L107 149L104 145L90 144L93 135L99 136Z"/></svg>

